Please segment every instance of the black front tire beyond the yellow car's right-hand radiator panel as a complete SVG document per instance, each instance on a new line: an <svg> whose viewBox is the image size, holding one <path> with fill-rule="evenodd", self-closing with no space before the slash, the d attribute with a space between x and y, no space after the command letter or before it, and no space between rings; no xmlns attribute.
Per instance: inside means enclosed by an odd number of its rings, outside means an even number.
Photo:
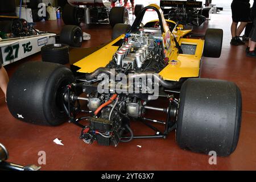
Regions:
<svg viewBox="0 0 256 182"><path fill-rule="evenodd" d="M222 49L223 30L208 28L205 33L204 56L220 57Z"/></svg>

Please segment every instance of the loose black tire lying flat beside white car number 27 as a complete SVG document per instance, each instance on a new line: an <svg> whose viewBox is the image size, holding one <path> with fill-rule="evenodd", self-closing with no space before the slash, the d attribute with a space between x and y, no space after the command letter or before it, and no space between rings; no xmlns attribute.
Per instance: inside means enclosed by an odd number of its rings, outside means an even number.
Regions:
<svg viewBox="0 0 256 182"><path fill-rule="evenodd" d="M48 44L41 48L42 61L67 64L69 63L69 47L65 44Z"/></svg>

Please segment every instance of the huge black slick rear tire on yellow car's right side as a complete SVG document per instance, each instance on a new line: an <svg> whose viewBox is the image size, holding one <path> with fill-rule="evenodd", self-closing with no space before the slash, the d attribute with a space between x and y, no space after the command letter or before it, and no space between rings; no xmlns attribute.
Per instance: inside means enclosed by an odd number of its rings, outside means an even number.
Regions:
<svg viewBox="0 0 256 182"><path fill-rule="evenodd" d="M233 82L189 78L180 90L177 144L204 154L232 154L240 134L241 110L241 92Z"/></svg>

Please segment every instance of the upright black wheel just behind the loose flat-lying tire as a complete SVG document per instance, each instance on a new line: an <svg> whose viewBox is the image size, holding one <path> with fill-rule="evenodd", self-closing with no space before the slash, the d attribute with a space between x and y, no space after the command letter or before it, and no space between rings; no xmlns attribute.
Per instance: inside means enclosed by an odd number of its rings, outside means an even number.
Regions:
<svg viewBox="0 0 256 182"><path fill-rule="evenodd" d="M82 46L82 30L79 26L67 25L60 32L60 43L71 47Z"/></svg>

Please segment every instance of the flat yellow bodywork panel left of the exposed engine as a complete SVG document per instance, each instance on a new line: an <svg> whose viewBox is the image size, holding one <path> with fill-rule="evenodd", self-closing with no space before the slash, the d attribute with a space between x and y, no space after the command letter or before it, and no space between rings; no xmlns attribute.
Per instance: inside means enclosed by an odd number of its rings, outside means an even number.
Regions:
<svg viewBox="0 0 256 182"><path fill-rule="evenodd" d="M105 47L98 49L98 51L86 56L84 59L77 61L74 65L81 68L78 72L92 73L97 68L106 67L109 61L112 60L114 53L117 51L118 46L112 46L118 40L122 39L125 35L120 35L118 38L107 44Z"/></svg>

